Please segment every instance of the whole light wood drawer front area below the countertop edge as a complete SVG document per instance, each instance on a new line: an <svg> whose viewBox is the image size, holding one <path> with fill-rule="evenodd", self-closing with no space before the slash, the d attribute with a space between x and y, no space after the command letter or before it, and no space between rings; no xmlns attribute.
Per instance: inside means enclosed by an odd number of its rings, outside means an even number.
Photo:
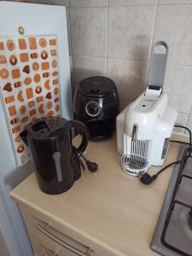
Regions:
<svg viewBox="0 0 192 256"><path fill-rule="evenodd" d="M37 256L113 256L106 248L46 214L20 206L26 229Z"/></svg>

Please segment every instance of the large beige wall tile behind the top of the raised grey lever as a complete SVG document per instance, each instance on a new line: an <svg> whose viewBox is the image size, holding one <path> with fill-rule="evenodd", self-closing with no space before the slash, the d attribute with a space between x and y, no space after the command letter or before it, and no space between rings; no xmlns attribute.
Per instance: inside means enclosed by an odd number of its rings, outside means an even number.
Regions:
<svg viewBox="0 0 192 256"><path fill-rule="evenodd" d="M169 45L168 61L192 65L192 5L161 5L158 7L154 42Z"/></svg>

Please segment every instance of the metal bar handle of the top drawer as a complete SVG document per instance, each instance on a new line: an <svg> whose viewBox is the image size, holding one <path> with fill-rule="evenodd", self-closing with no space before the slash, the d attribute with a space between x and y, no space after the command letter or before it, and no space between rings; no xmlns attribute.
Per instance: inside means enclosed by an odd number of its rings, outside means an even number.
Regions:
<svg viewBox="0 0 192 256"><path fill-rule="evenodd" d="M49 226L49 224L48 224L48 226ZM88 247L87 253L84 253L84 252L80 251L79 249L77 249L76 247L73 247L73 246L69 245L66 241L61 241L61 239L52 235L48 230L46 230L46 227L44 228L40 224L36 224L35 227L40 232L42 232L45 236L48 236L49 239L51 239L52 241L55 241L58 245L60 245L61 247L66 248L68 251L70 251L71 253L74 253L75 255L89 256L90 252L92 251L92 248Z"/></svg>

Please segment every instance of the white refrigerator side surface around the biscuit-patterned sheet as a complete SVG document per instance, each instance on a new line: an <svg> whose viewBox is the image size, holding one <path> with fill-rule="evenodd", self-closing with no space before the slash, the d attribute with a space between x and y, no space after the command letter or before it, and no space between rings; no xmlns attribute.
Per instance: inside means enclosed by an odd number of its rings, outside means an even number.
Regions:
<svg viewBox="0 0 192 256"><path fill-rule="evenodd" d="M61 114L66 119L72 119L73 104L67 42L66 8L53 5L1 1L0 37L20 36L18 32L19 26L24 27L26 35L55 34L57 36L61 81ZM32 166L31 162L20 168L16 166L1 101L0 116L0 231L10 255L31 256L33 255L32 248L27 238L22 218L20 217L20 211L15 202L10 199L9 192L32 172Z"/></svg>

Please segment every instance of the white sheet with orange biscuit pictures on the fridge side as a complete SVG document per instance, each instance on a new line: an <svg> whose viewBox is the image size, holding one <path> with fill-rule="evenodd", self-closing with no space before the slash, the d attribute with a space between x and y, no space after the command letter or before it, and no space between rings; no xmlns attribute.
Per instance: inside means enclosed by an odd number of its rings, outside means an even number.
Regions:
<svg viewBox="0 0 192 256"><path fill-rule="evenodd" d="M0 90L18 166L30 160L20 131L33 119L61 114L57 38L0 38Z"/></svg>

